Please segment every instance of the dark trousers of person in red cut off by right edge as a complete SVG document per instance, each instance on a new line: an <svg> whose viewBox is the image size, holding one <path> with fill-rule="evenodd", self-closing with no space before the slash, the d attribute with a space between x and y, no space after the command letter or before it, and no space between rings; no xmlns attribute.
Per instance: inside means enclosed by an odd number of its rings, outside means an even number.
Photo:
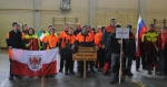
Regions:
<svg viewBox="0 0 167 87"><path fill-rule="evenodd" d="M163 50L163 70L167 75L167 50Z"/></svg>

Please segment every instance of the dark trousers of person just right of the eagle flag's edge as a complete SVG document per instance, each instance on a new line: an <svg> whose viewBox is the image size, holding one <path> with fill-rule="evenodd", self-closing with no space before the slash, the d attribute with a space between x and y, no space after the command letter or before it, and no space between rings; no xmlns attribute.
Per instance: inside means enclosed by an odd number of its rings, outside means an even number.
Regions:
<svg viewBox="0 0 167 87"><path fill-rule="evenodd" d="M60 52L60 69L63 69L63 65L65 65L65 59L67 57L67 50L66 48L61 48Z"/></svg>

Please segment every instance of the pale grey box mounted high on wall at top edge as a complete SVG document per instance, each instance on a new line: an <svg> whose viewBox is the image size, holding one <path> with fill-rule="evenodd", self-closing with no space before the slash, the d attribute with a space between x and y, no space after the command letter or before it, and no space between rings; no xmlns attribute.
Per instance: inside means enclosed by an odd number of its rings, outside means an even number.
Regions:
<svg viewBox="0 0 167 87"><path fill-rule="evenodd" d="M70 2L71 0L60 0L60 9L61 10L70 10Z"/></svg>

